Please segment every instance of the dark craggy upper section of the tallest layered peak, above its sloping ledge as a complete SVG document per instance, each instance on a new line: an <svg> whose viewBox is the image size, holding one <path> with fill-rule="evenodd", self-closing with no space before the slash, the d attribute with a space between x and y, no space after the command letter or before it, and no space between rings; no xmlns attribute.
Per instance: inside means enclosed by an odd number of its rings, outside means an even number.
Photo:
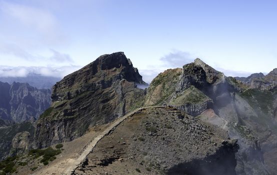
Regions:
<svg viewBox="0 0 277 175"><path fill-rule="evenodd" d="M138 69L133 67L124 52L103 54L57 82L53 87L52 97L54 101L69 99L87 90L110 87L114 82L123 79L137 84L146 84ZM60 94L56 94L56 91Z"/></svg>

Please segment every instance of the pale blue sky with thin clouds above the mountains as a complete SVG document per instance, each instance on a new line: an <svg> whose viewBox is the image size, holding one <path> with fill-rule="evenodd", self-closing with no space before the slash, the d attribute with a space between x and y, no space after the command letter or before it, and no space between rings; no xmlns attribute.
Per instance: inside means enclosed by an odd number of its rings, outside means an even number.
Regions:
<svg viewBox="0 0 277 175"><path fill-rule="evenodd" d="M274 0L0 0L0 76L62 77L117 51L148 82L196 57L228 76L268 73L277 67L276 6Z"/></svg>

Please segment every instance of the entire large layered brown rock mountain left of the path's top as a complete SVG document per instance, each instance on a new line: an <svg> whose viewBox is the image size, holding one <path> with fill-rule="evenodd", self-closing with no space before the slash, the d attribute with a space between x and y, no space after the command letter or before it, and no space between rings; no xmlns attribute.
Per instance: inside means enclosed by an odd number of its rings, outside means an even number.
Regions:
<svg viewBox="0 0 277 175"><path fill-rule="evenodd" d="M53 104L37 122L35 145L45 147L83 135L142 105L145 84L123 52L105 54L53 86Z"/></svg>

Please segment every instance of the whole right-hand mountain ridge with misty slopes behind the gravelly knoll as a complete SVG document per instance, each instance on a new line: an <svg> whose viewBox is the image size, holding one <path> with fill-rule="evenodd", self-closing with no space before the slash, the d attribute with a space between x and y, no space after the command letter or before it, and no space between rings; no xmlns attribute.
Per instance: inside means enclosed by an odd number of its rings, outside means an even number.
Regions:
<svg viewBox="0 0 277 175"><path fill-rule="evenodd" d="M254 87L224 76L200 59L184 65L181 71L169 69L154 78L144 105L172 105L228 130L240 145L237 174L273 173L275 166L269 159L276 157L269 152L276 149L276 93L272 88L275 72L267 77L252 75L268 83L266 87Z"/></svg>

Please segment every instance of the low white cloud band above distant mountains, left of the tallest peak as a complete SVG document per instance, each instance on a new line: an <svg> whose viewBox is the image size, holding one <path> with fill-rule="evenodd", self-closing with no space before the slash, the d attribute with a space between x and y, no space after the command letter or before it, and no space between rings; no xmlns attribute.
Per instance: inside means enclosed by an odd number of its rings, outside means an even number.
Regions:
<svg viewBox="0 0 277 175"><path fill-rule="evenodd" d="M26 77L32 74L40 74L44 76L53 77L64 77L78 69L81 66L71 65L62 67L46 67L46 66L32 66L32 67L11 67L11 66L0 66L1 77Z"/></svg>

